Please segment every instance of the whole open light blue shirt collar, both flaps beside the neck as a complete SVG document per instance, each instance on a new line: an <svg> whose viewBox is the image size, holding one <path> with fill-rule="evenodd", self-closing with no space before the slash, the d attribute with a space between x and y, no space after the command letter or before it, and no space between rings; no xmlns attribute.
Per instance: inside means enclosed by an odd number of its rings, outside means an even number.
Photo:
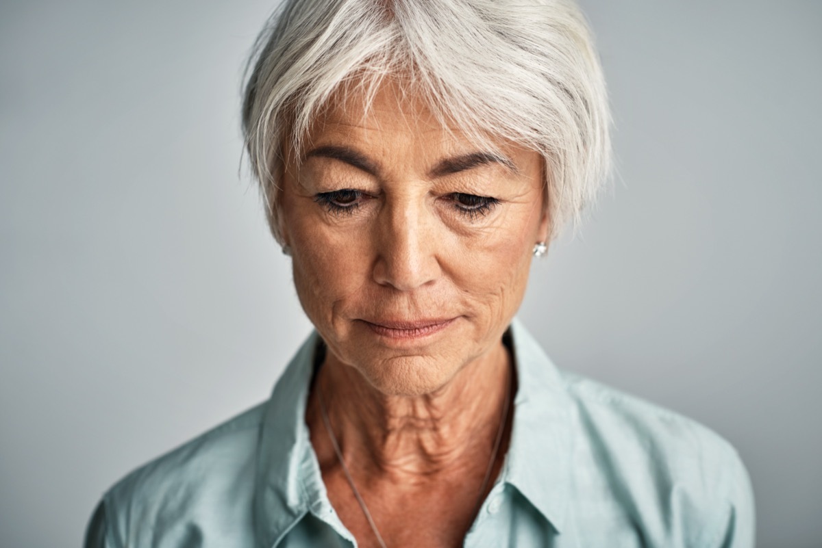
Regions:
<svg viewBox="0 0 822 548"><path fill-rule="evenodd" d="M518 387L502 479L520 491L559 532L570 495L572 402L556 367L516 319L510 336ZM276 546L309 512L348 536L331 511L305 423L319 340L316 331L312 332L266 404L254 500L254 527L261 546Z"/></svg>

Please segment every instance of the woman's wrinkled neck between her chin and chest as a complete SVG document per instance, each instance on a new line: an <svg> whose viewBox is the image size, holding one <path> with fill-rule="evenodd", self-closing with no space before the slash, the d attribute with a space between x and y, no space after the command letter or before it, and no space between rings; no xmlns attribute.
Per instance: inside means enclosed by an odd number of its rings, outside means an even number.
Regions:
<svg viewBox="0 0 822 548"><path fill-rule="evenodd" d="M321 466L334 463L318 397L352 472L408 484L448 473L485 472L501 427L510 358L500 343L427 395L385 395L327 354L307 410ZM482 456L481 456L482 455Z"/></svg>

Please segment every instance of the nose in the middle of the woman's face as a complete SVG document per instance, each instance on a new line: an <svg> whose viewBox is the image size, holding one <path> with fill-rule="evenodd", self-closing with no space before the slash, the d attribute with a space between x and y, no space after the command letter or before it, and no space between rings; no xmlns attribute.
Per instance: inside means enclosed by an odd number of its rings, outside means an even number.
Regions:
<svg viewBox="0 0 822 548"><path fill-rule="evenodd" d="M375 225L374 281L400 291L436 281L442 271L432 212L424 203L402 199L386 203L380 217Z"/></svg>

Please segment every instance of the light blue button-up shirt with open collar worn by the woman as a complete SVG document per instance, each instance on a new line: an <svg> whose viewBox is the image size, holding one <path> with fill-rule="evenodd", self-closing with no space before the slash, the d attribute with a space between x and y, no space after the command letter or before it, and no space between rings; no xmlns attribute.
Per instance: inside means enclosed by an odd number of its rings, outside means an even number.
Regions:
<svg viewBox="0 0 822 548"><path fill-rule="evenodd" d="M731 445L558 370L518 322L510 335L510 448L464 546L754 546L750 481ZM86 546L357 546L328 500L304 421L317 342L315 333L302 345L266 403L113 486Z"/></svg>

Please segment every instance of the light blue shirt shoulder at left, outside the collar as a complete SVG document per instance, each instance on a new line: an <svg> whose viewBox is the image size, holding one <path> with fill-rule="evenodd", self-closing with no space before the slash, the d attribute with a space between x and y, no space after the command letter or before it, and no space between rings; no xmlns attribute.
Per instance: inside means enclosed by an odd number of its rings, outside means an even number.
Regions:
<svg viewBox="0 0 822 548"><path fill-rule="evenodd" d="M186 541L194 540L188 537L203 534L202 518L209 520L208 527L249 521L264 409L265 404L257 405L114 484L98 510L104 514L98 519L104 521L107 542L155 546L148 539L173 537L187 546ZM227 523L219 523L223 521Z"/></svg>

